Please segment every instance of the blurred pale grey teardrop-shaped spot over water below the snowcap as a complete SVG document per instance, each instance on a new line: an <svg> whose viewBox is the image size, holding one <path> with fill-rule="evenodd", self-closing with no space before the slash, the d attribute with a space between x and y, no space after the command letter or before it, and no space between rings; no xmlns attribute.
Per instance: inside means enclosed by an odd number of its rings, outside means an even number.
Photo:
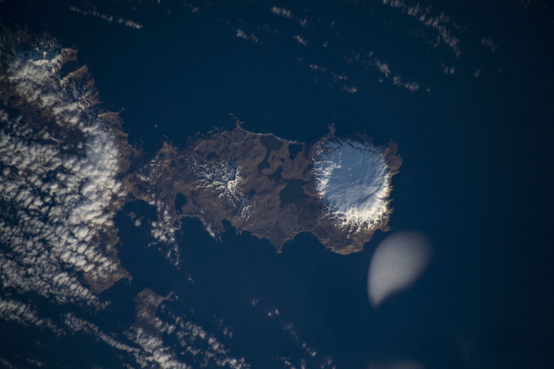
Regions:
<svg viewBox="0 0 554 369"><path fill-rule="evenodd" d="M431 243L421 233L392 233L378 245L369 263L367 294L374 307L405 291L418 280L431 259Z"/></svg>

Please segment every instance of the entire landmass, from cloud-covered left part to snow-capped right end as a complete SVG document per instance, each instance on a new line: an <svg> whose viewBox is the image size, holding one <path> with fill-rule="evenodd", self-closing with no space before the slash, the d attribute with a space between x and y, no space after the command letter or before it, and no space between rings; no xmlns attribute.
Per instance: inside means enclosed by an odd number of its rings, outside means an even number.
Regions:
<svg viewBox="0 0 554 369"><path fill-rule="evenodd" d="M218 238L267 239L278 252L310 232L339 254L388 229L397 145L363 134L311 143L252 133L236 120L146 152L129 145L77 50L0 27L0 282L101 310L98 294L132 279L118 258L115 215L132 201L157 212L152 243L179 266L175 234L195 217ZM232 227L229 227L230 225Z"/></svg>

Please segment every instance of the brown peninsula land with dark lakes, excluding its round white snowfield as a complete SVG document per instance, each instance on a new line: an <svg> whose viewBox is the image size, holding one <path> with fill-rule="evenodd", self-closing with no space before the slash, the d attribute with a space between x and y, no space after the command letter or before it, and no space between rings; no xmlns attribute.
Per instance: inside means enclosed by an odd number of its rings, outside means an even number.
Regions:
<svg viewBox="0 0 554 369"><path fill-rule="evenodd" d="M334 212L335 204L322 196L318 162L326 143L348 147L359 143L383 162L383 183L378 184L383 188L379 199L383 209L378 219L345 224ZM183 149L163 143L150 161L123 182L130 198L155 205L159 229L152 233L161 241L172 239L167 230L180 217L197 217L216 238L227 221L237 233L248 231L266 238L278 252L287 240L311 232L333 252L348 254L362 250L377 229L388 229L390 178L401 164L395 143L374 147L361 134L339 139L332 126L327 136L306 144L252 133L237 121L234 129L190 140ZM366 171L361 165L363 170L357 168L358 172ZM364 201L368 196L378 194L366 195Z"/></svg>

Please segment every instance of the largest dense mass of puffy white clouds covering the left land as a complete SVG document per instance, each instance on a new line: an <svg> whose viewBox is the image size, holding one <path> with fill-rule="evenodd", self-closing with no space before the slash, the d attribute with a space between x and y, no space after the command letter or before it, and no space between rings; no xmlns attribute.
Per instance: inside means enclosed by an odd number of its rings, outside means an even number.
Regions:
<svg viewBox="0 0 554 369"><path fill-rule="evenodd" d="M119 152L94 99L72 75L60 79L67 55L71 50L45 39L4 59L3 90L45 122L34 129L26 113L0 110L0 281L58 303L101 308L76 273L97 289L127 275L111 251Z"/></svg>

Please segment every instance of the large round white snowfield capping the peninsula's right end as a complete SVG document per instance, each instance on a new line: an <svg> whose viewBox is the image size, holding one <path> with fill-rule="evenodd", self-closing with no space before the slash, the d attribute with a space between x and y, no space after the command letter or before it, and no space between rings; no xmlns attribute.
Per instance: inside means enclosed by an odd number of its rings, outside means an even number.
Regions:
<svg viewBox="0 0 554 369"><path fill-rule="evenodd" d="M339 226L379 226L388 213L390 170L378 148L327 140L315 158L315 187Z"/></svg>

